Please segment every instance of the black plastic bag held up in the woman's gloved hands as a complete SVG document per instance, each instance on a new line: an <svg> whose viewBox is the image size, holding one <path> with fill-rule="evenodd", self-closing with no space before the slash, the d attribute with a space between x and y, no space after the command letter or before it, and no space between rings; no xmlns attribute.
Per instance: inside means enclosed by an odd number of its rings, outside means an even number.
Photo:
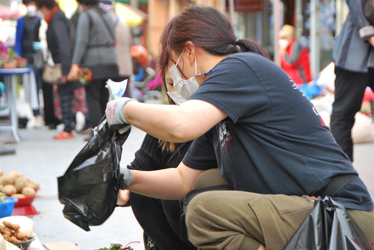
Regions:
<svg viewBox="0 0 374 250"><path fill-rule="evenodd" d="M57 178L62 213L86 231L104 223L117 206L122 145L129 133L130 128L123 134L111 132L104 115L92 138Z"/></svg>

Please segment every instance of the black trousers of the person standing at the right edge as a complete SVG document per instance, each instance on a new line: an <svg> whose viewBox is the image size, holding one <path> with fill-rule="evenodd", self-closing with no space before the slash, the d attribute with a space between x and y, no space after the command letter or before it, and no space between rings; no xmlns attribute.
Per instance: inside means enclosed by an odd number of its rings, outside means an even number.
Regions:
<svg viewBox="0 0 374 250"><path fill-rule="evenodd" d="M367 86L374 90L374 69L368 73L335 67L335 101L332 104L330 129L335 141L353 162L351 129L360 110Z"/></svg>

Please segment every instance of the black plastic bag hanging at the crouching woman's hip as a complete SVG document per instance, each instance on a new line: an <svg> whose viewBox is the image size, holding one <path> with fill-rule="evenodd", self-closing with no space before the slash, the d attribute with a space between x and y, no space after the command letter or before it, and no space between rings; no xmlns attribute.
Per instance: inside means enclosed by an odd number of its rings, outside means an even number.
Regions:
<svg viewBox="0 0 374 250"><path fill-rule="evenodd" d="M317 200L283 250L374 249L343 205L330 197Z"/></svg>

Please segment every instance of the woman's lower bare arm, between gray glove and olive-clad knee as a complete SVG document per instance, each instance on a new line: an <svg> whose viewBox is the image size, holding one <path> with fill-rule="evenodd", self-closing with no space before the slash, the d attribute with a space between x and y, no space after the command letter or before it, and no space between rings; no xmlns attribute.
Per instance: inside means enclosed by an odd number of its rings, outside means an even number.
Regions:
<svg viewBox="0 0 374 250"><path fill-rule="evenodd" d="M177 168L130 171L132 182L129 191L159 199L181 200L192 189L197 176L205 170L191 169L180 163Z"/></svg>

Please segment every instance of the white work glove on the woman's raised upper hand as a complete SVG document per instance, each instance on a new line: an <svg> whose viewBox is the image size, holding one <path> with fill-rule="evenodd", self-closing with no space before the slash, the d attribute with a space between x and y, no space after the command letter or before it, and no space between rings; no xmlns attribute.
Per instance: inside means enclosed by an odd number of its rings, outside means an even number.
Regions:
<svg viewBox="0 0 374 250"><path fill-rule="evenodd" d="M121 97L116 100L110 101L107 103L107 108L105 109L105 114L107 115L108 125L110 130L119 132L125 132L129 124L126 121L125 117L123 116L123 107L125 107L126 103L129 101L137 101L135 99ZM125 131L123 131L126 129Z"/></svg>

